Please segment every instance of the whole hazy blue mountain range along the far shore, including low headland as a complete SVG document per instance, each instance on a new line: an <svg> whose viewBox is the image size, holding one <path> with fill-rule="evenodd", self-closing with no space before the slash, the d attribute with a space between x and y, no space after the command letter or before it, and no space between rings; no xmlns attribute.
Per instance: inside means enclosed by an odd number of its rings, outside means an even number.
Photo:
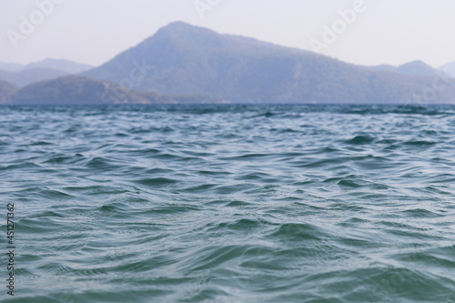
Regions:
<svg viewBox="0 0 455 303"><path fill-rule="evenodd" d="M54 59L43 62L58 64ZM26 75L13 85L2 83L1 103L455 103L454 81L421 61L356 66L183 22L160 28L80 76L27 82Z"/></svg>

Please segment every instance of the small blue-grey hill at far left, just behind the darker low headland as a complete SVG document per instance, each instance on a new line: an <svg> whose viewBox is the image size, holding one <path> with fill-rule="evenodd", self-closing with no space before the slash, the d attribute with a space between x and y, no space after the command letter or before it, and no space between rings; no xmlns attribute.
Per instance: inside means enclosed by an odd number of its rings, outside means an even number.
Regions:
<svg viewBox="0 0 455 303"><path fill-rule="evenodd" d="M66 72L62 72L56 69L41 67L25 69L19 72L6 72L0 70L0 80L12 83L15 86L26 86L30 83L55 79L59 76L64 76L66 74L67 74Z"/></svg>

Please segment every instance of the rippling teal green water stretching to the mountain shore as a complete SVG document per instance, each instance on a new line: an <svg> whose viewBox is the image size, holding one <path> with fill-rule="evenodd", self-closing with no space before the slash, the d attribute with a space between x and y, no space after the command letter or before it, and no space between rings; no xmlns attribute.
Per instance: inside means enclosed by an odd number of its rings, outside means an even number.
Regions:
<svg viewBox="0 0 455 303"><path fill-rule="evenodd" d="M2 301L455 302L454 106L5 106L0 127Z"/></svg>

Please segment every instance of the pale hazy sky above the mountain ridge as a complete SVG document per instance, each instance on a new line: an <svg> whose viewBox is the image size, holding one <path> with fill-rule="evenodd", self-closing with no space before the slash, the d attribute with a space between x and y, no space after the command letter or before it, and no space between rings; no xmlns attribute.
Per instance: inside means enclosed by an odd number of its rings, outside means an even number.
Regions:
<svg viewBox="0 0 455 303"><path fill-rule="evenodd" d="M436 67L455 61L454 12L453 0L0 0L0 61L98 66L180 20L359 65Z"/></svg>

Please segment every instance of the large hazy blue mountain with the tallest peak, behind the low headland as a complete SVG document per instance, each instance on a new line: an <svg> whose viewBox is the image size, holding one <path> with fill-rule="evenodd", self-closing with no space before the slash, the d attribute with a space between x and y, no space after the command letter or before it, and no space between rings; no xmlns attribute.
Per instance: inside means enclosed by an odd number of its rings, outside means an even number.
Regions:
<svg viewBox="0 0 455 303"><path fill-rule="evenodd" d="M434 76L423 67L400 66L397 73L354 66L177 22L84 75L159 94L231 102L402 103L432 87ZM454 97L450 84L430 101L453 102Z"/></svg>

